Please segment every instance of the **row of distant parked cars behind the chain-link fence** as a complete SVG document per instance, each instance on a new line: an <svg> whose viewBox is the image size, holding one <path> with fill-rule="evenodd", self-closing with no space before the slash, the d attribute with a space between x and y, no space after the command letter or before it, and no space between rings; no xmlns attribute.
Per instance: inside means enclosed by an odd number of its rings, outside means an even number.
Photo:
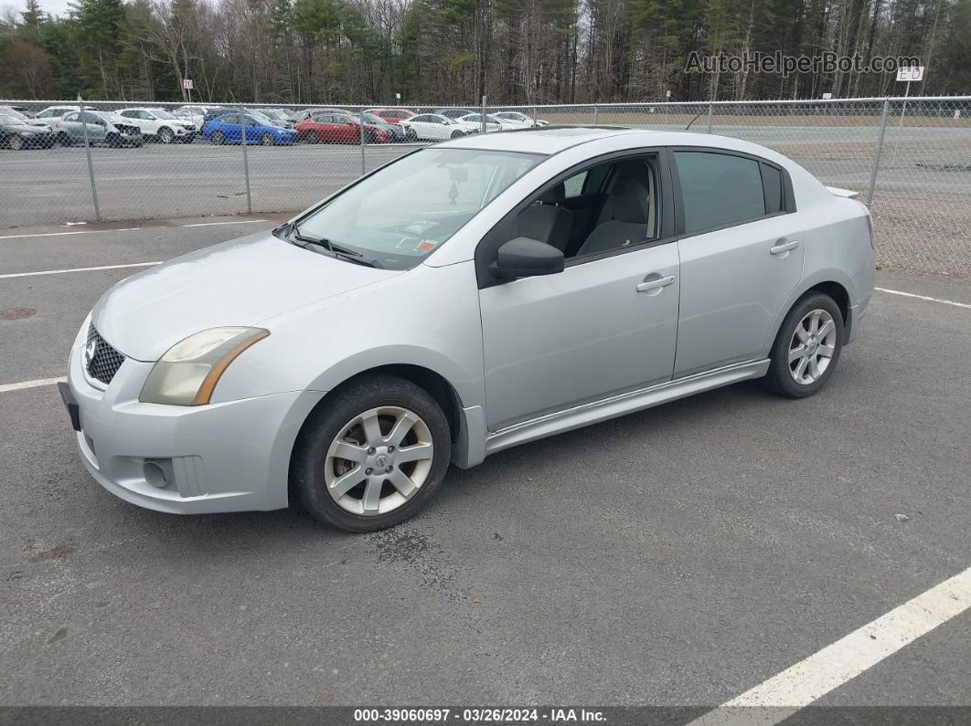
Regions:
<svg viewBox="0 0 971 726"><path fill-rule="evenodd" d="M226 143L289 145L309 143L437 142L485 131L545 126L518 111L443 108L416 113L408 109L347 110L310 107L300 110L228 109L187 104L174 110L131 107L98 110L91 106L50 106L29 115L27 110L0 106L0 146L11 149L50 148L84 143L138 147L147 141L191 143L196 138Z"/></svg>

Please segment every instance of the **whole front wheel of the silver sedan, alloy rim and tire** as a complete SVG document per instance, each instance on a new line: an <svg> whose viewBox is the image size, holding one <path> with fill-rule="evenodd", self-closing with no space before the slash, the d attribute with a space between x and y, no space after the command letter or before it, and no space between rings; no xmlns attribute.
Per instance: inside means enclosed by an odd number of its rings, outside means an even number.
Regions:
<svg viewBox="0 0 971 726"><path fill-rule="evenodd" d="M363 376L328 396L294 447L290 482L318 520L371 532L414 516L451 457L441 407L411 381Z"/></svg>

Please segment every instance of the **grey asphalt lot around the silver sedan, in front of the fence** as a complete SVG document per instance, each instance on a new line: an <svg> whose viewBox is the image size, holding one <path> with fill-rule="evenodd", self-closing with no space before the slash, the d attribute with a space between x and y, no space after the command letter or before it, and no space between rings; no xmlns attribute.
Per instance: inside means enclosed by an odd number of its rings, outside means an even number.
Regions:
<svg viewBox="0 0 971 726"><path fill-rule="evenodd" d="M273 220L0 235L0 705L715 707L971 564L971 285L891 273L820 395L512 449L385 532L118 500L31 382L117 266ZM971 706L969 675L965 610L816 703Z"/></svg>

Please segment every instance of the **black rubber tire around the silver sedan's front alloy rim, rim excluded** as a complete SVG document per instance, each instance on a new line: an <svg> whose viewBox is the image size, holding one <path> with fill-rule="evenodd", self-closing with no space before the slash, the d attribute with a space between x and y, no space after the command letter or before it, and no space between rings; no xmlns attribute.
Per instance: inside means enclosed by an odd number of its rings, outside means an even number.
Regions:
<svg viewBox="0 0 971 726"><path fill-rule="evenodd" d="M418 492L381 515L353 514L326 490L324 466L331 442L341 428L372 408L397 406L418 414L431 434L434 456ZM438 491L452 456L449 422L427 391L397 376L365 375L328 395L304 424L290 459L290 490L313 517L349 532L374 532L415 516ZM363 464L362 464L363 465Z"/></svg>

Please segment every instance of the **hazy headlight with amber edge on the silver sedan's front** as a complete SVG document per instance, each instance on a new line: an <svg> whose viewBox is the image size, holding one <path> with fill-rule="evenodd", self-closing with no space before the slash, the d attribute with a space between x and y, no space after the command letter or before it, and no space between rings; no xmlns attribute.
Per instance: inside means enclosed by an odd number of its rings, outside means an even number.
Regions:
<svg viewBox="0 0 971 726"><path fill-rule="evenodd" d="M154 364L138 399L173 406L209 403L229 363L269 334L262 328L212 328L189 335Z"/></svg>

